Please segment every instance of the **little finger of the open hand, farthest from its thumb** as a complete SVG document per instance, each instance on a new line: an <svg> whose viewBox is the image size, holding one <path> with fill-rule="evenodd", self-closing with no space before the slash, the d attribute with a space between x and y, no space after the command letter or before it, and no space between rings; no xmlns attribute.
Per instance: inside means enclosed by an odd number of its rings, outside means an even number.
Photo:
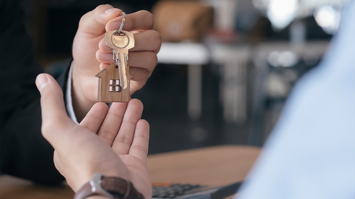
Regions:
<svg viewBox="0 0 355 199"><path fill-rule="evenodd" d="M132 146L128 154L142 160L144 164L147 163L149 144L149 124L146 120L138 120L136 130L134 132Z"/></svg>

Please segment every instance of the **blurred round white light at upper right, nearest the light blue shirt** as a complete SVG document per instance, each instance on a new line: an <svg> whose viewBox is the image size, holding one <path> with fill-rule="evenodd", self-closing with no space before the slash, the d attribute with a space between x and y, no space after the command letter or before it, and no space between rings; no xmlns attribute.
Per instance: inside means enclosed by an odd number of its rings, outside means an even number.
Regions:
<svg viewBox="0 0 355 199"><path fill-rule="evenodd" d="M324 5L315 11L314 18L324 32L328 34L337 32L340 23L340 8L338 4L336 6Z"/></svg>

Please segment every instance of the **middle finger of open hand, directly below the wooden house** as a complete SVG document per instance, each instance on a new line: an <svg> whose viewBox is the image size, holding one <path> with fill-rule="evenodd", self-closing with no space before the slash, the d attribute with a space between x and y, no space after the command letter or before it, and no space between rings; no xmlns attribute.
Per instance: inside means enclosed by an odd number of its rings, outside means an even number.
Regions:
<svg viewBox="0 0 355 199"><path fill-rule="evenodd" d="M99 137L110 147L112 146L112 143L120 129L127 104L128 103L122 102L112 103L101 128L97 132Z"/></svg>

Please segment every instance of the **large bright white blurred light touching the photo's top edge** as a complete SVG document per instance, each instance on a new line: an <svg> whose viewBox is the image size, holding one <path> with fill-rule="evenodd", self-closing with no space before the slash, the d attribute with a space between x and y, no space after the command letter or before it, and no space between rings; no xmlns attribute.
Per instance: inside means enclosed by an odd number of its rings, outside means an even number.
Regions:
<svg viewBox="0 0 355 199"><path fill-rule="evenodd" d="M298 0L270 0L267 17L276 29L283 29L289 25L298 12Z"/></svg>

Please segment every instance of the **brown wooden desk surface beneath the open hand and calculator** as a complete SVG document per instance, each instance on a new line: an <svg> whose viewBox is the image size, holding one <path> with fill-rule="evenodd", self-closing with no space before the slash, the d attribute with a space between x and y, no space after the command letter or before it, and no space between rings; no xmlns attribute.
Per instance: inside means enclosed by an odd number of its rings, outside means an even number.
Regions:
<svg viewBox="0 0 355 199"><path fill-rule="evenodd" d="M198 183L221 186L244 180L260 148L216 146L153 154L147 167L152 182ZM12 176L0 177L0 199L72 199L68 186L48 187Z"/></svg>

